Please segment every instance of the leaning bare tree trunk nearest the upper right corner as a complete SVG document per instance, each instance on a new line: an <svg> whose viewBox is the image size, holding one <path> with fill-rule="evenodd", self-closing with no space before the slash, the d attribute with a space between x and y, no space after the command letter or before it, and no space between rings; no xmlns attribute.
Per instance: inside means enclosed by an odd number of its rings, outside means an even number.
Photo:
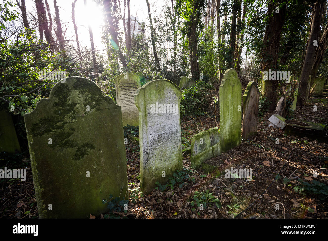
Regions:
<svg viewBox="0 0 328 241"><path fill-rule="evenodd" d="M309 76L313 67L313 59L316 55L317 46L315 46L315 41L317 41L318 43L319 36L320 36L320 25L321 25L323 6L324 6L324 1L318 0L315 3L312 11L309 39L306 44L307 46L306 46L305 57L303 61L303 67L302 67L301 74L299 76L298 103L300 105L303 105L305 101ZM314 78L315 76L312 77Z"/></svg>

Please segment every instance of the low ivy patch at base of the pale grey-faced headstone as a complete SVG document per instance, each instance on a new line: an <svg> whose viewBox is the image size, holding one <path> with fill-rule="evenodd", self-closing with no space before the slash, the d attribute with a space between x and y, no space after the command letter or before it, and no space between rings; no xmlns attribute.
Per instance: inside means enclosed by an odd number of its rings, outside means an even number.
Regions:
<svg viewBox="0 0 328 241"><path fill-rule="evenodd" d="M183 168L183 171L176 171L173 173L172 177L169 177L169 181L165 185L161 185L159 182L156 182L155 184L158 186L155 189L160 191L165 191L167 188L171 188L173 190L174 185L179 184L179 188L182 188L183 185L185 185L186 181L192 181L195 182L194 177L190 177L192 175L192 171Z"/></svg>

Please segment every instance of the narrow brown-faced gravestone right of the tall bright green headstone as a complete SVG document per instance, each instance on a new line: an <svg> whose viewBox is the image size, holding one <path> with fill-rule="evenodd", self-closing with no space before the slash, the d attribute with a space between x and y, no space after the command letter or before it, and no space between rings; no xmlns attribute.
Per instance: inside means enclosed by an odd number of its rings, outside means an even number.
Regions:
<svg viewBox="0 0 328 241"><path fill-rule="evenodd" d="M243 132L242 137L248 139L257 131L257 115L259 92L255 81L249 82L243 95Z"/></svg>

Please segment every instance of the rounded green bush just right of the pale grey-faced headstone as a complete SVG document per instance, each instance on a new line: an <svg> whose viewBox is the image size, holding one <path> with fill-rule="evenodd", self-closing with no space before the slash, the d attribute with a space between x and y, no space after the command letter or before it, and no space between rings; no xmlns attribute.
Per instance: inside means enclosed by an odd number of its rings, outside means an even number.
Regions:
<svg viewBox="0 0 328 241"><path fill-rule="evenodd" d="M214 89L211 84L199 80L196 85L182 90L181 115L203 115L213 101L209 93Z"/></svg>

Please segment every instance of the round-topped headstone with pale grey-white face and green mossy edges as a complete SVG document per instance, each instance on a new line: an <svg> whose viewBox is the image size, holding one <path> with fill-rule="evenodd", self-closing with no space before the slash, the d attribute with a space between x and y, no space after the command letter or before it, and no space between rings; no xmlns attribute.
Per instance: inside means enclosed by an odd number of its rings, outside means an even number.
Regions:
<svg viewBox="0 0 328 241"><path fill-rule="evenodd" d="M179 88L169 80L153 80L135 94L139 110L140 188L149 193L182 170Z"/></svg>

